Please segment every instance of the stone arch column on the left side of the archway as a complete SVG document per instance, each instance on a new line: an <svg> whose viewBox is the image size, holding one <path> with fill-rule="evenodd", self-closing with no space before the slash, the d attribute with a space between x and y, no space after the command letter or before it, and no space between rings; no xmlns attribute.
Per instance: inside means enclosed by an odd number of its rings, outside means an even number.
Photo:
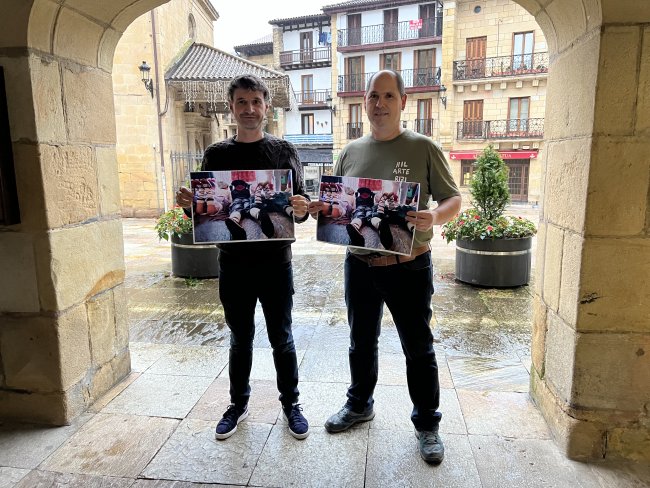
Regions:
<svg viewBox="0 0 650 488"><path fill-rule="evenodd" d="M164 0L7 0L21 223L0 232L0 418L61 425L130 371L111 68Z"/></svg>

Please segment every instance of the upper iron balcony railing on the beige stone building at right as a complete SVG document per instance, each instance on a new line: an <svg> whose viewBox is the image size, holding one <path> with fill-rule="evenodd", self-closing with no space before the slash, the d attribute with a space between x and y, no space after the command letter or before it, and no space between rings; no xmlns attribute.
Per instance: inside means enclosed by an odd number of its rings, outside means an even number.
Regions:
<svg viewBox="0 0 650 488"><path fill-rule="evenodd" d="M454 61L454 80L548 73L548 53Z"/></svg>

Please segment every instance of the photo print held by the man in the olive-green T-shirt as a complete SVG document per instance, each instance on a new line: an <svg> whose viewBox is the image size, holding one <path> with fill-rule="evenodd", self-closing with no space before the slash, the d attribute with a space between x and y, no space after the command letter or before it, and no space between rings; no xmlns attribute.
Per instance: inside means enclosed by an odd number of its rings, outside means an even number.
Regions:
<svg viewBox="0 0 650 488"><path fill-rule="evenodd" d="M420 184L351 176L323 176L318 199L317 240L372 251L410 255L413 224L406 213L418 209Z"/></svg>

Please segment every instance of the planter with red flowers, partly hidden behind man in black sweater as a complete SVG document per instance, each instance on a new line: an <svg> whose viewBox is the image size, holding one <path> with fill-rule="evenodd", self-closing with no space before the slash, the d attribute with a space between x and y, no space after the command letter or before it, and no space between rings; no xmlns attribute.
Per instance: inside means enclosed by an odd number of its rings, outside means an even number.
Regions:
<svg viewBox="0 0 650 488"><path fill-rule="evenodd" d="M181 278L219 276L219 249L214 244L194 244L192 219L182 208L164 212L154 227L158 239L171 241L172 273Z"/></svg>

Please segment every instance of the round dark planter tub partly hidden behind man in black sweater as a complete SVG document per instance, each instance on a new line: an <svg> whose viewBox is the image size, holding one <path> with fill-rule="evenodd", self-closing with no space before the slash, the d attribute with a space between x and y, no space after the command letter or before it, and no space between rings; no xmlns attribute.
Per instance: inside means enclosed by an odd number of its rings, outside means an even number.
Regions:
<svg viewBox="0 0 650 488"><path fill-rule="evenodd" d="M218 278L219 249L214 244L194 244L192 234L172 236L172 273L180 278Z"/></svg>

